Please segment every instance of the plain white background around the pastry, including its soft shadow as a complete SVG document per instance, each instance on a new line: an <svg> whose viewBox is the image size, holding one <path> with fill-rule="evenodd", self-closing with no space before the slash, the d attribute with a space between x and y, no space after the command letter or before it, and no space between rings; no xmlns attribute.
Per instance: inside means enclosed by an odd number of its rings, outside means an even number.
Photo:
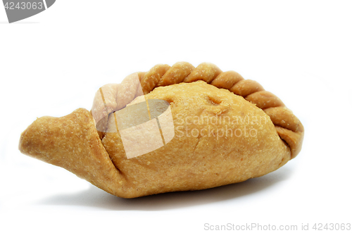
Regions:
<svg viewBox="0 0 352 233"><path fill-rule="evenodd" d="M0 232L352 223L351 12L351 1L58 0L8 24L1 6ZM90 109L103 84L177 61L277 94L305 127L298 157L240 184L120 199L18 151L37 117Z"/></svg>

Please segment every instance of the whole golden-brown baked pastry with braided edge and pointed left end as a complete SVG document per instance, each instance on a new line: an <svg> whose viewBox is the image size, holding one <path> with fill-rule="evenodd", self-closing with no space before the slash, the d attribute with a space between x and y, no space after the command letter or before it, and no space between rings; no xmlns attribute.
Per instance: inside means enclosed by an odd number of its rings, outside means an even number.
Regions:
<svg viewBox="0 0 352 233"><path fill-rule="evenodd" d="M179 62L101 87L90 112L38 118L19 149L134 198L260 177L297 156L303 131L258 82Z"/></svg>

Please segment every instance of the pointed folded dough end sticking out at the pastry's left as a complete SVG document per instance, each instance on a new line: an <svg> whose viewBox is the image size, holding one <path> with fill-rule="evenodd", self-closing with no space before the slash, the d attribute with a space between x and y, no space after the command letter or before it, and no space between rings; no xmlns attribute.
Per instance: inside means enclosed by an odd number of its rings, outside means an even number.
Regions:
<svg viewBox="0 0 352 233"><path fill-rule="evenodd" d="M21 134L19 149L118 196L115 189L122 178L101 144L92 115L84 108L62 118L38 118Z"/></svg>

